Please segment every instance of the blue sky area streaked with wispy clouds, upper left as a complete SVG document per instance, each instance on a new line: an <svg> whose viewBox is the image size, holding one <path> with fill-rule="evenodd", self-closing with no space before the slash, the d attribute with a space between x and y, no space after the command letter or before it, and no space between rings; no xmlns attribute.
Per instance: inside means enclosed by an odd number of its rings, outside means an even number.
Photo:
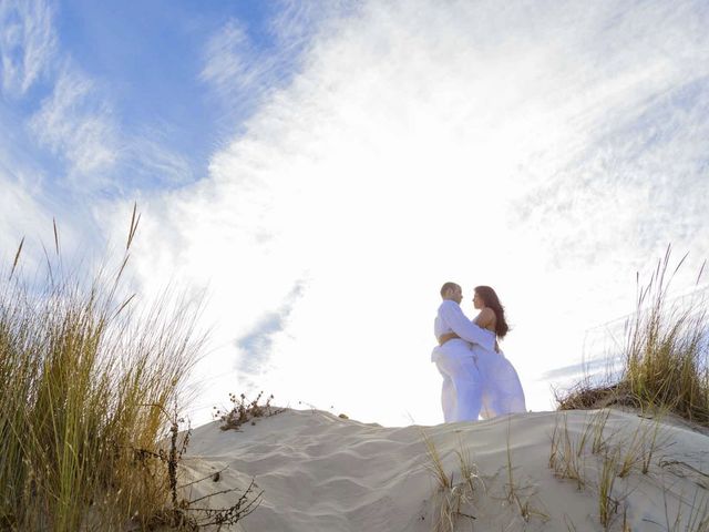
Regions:
<svg viewBox="0 0 709 532"><path fill-rule="evenodd" d="M3 72L2 116L16 130L6 129L3 144L41 162L45 186L59 194L68 175L89 173L91 192L107 196L194 182L264 95L288 82L305 41L279 22L286 13L300 23L302 11L288 2L3 2L3 61L12 68ZM214 82L205 72L213 51L243 64ZM68 132L42 139L41 110L52 103L45 114L89 126L86 141L104 153L68 155Z"/></svg>

